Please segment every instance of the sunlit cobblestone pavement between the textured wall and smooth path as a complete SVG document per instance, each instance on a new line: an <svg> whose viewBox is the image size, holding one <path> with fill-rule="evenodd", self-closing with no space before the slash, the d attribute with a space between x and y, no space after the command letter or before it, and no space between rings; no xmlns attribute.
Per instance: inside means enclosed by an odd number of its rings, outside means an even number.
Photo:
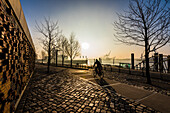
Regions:
<svg viewBox="0 0 170 113"><path fill-rule="evenodd" d="M16 110L17 113L41 112L156 112L151 108L122 97L110 87L71 75L69 69L45 74L38 66ZM54 70L54 69L53 69Z"/></svg>

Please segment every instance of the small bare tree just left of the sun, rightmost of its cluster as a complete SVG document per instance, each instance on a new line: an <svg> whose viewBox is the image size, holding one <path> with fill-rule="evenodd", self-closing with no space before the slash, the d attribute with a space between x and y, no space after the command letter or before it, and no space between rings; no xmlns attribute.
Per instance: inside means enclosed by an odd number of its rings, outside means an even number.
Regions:
<svg viewBox="0 0 170 113"><path fill-rule="evenodd" d="M70 38L66 42L65 52L70 57L70 64L71 64L71 67L72 67L73 59L76 56L80 55L80 44L75 39L74 33L71 33Z"/></svg>

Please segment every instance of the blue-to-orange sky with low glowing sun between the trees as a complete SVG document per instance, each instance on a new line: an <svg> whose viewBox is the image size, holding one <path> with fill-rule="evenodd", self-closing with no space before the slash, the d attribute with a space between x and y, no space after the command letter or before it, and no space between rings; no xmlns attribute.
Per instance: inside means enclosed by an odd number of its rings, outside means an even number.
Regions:
<svg viewBox="0 0 170 113"><path fill-rule="evenodd" d="M69 37L72 32L81 44L81 55L99 58L111 51L110 57L130 58L131 53L139 58L144 48L128 46L114 41L113 23L116 12L128 9L128 0L20 0L35 48L42 50L37 38L42 35L35 29L35 21L44 17L58 21L62 33ZM160 53L169 54L169 45Z"/></svg>

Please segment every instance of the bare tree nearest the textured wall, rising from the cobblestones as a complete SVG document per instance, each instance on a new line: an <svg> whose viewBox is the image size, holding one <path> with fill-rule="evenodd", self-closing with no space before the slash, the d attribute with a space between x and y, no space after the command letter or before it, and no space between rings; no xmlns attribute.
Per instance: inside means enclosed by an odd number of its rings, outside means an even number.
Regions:
<svg viewBox="0 0 170 113"><path fill-rule="evenodd" d="M51 61L51 53L54 50L56 45L56 39L59 37L61 33L59 31L58 22L53 22L50 18L44 18L45 22L40 23L40 25L36 22L36 30L41 33L44 37L40 38L39 40L43 44L43 49L48 53L48 67L47 72L50 71L50 61Z"/></svg>

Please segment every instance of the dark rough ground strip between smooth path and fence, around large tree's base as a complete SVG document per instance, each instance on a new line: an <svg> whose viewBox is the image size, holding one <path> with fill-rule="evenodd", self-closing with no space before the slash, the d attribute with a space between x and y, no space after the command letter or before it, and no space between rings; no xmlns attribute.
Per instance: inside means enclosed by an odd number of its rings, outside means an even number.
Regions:
<svg viewBox="0 0 170 113"><path fill-rule="evenodd" d="M105 71L105 77L129 85L141 87L145 90L150 90L170 96L170 82L167 81L162 81L160 79L151 79L152 85L149 85L146 84L146 77L109 71Z"/></svg>

